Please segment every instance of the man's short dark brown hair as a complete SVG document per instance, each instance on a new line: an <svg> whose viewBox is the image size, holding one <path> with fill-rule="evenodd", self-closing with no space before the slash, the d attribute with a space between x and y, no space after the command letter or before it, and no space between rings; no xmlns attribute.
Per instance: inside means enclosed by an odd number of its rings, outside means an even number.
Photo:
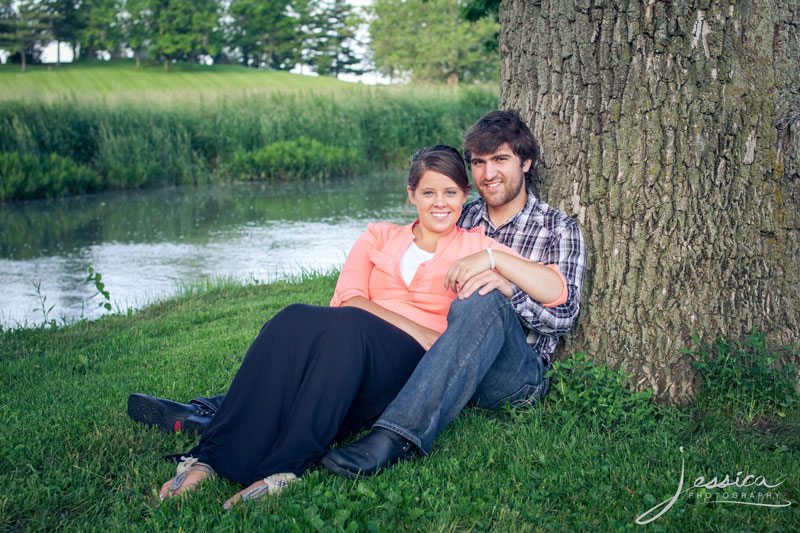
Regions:
<svg viewBox="0 0 800 533"><path fill-rule="evenodd" d="M490 111L478 119L464 136L464 158L470 164L472 154L492 154L503 143L508 143L522 163L531 160L531 168L525 173L525 184L528 189L533 188L539 181L536 171L540 161L539 143L513 109Z"/></svg>

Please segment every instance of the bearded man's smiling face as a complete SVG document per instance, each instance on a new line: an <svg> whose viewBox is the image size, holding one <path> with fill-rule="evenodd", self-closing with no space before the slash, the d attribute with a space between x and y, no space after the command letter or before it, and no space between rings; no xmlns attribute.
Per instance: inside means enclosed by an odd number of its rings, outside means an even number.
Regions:
<svg viewBox="0 0 800 533"><path fill-rule="evenodd" d="M525 172L531 168L531 160L520 160L508 143L492 154L472 154L470 165L475 187L490 207L503 206L527 194Z"/></svg>

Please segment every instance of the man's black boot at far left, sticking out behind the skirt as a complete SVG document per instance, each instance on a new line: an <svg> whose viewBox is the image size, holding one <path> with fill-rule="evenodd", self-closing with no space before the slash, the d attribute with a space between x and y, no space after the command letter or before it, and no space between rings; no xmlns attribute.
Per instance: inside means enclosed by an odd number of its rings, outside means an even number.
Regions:
<svg viewBox="0 0 800 533"><path fill-rule="evenodd" d="M213 413L198 405L171 402L149 394L131 394L128 396L128 416L167 433L202 433L211 422Z"/></svg>

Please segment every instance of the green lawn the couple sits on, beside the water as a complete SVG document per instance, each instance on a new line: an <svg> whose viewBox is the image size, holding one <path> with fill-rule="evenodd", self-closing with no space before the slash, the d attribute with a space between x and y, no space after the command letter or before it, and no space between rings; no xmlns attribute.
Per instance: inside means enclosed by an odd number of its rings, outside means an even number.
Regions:
<svg viewBox="0 0 800 533"><path fill-rule="evenodd" d="M174 473L162 456L195 439L130 421L128 394L224 391L266 319L292 302L326 304L334 284L333 275L314 275L197 286L131 315L2 333L0 529L639 531L636 517L675 492L681 461L687 483L740 471L783 480L780 498L793 506L686 495L646 530L800 529L796 404L783 417L765 412L747 423L708 401L653 410L646 398L623 395L607 402L627 413L620 416L597 398L617 394L623 378L579 357L561 366L541 404L468 408L428 457L374 478L315 471L278 497L228 513L221 504L240 487L227 481L154 503L153 489Z"/></svg>

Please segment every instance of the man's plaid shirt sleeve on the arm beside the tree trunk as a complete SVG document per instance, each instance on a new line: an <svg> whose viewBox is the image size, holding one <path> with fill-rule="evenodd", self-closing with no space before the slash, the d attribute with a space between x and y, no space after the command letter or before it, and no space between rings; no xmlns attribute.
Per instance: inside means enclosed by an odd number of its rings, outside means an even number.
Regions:
<svg viewBox="0 0 800 533"><path fill-rule="evenodd" d="M541 248L534 246L531 261L554 264L567 281L567 301L547 308L515 287L511 305L529 328L548 337L560 337L572 326L580 310L583 277L586 270L586 244L577 224L568 224Z"/></svg>

